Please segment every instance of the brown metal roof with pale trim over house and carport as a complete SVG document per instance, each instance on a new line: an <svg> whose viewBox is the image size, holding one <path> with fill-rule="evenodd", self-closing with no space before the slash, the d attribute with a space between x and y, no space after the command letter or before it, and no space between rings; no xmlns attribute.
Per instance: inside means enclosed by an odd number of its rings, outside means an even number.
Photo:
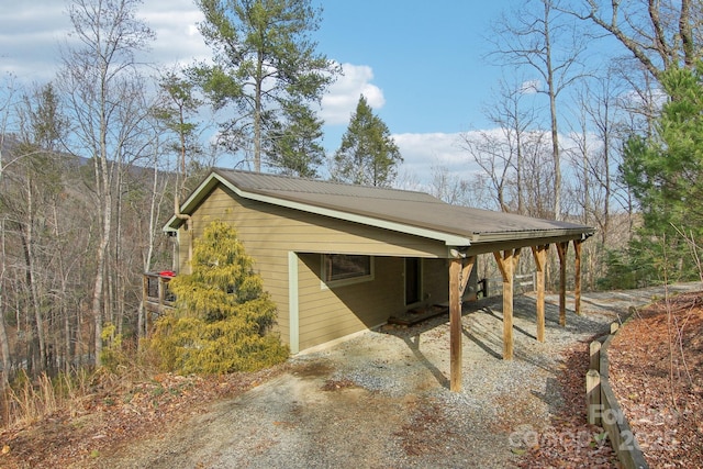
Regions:
<svg viewBox="0 0 703 469"><path fill-rule="evenodd" d="M434 237L455 246L579 238L594 232L593 227L573 223L450 205L423 192L227 169L213 170L183 203L181 212L191 213L217 183L244 198ZM174 216L165 230L177 228L181 222Z"/></svg>

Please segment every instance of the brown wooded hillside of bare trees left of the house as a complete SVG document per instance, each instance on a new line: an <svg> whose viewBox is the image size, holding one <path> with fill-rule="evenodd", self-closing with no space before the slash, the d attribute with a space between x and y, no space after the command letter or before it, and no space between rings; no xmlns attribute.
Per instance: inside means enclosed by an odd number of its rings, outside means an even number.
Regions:
<svg viewBox="0 0 703 469"><path fill-rule="evenodd" d="M93 364L90 301L100 239L94 161L14 135L5 137L2 154L3 369L55 375ZM110 174L116 202L103 320L114 325L113 335L144 336L142 272L171 266L172 241L159 228L172 214L176 179L158 166L120 163Z"/></svg>

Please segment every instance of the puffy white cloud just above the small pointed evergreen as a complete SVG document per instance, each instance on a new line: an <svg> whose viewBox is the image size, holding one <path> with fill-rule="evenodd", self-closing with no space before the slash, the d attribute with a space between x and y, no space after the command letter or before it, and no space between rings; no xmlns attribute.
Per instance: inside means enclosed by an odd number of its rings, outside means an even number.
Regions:
<svg viewBox="0 0 703 469"><path fill-rule="evenodd" d="M321 118L327 125L347 124L364 94L372 109L386 104L383 91L371 83L373 70L367 65L342 64L344 75L330 87L322 98Z"/></svg>

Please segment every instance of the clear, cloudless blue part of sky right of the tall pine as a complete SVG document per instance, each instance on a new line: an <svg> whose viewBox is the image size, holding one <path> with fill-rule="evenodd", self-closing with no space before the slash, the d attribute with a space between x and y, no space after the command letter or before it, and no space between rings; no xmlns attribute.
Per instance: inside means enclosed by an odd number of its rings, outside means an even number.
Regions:
<svg viewBox="0 0 703 469"><path fill-rule="evenodd" d="M462 131L481 119L481 96L499 74L481 59L499 3L327 1L320 49L371 68L384 98L378 113L392 132Z"/></svg>

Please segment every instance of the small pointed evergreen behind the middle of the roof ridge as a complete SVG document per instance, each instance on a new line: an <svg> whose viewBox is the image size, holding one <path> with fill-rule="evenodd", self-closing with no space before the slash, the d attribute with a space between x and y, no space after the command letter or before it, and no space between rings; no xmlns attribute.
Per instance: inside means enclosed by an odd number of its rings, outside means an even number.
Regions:
<svg viewBox="0 0 703 469"><path fill-rule="evenodd" d="M342 145L334 155L332 178L356 185L390 187L403 161L386 123L361 96Z"/></svg>

